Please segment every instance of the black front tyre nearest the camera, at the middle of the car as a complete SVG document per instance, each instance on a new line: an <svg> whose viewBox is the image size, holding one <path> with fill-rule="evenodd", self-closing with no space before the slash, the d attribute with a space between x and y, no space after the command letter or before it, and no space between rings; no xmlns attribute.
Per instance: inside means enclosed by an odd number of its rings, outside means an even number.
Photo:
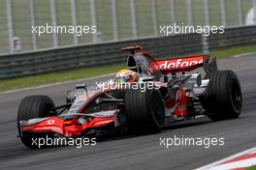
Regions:
<svg viewBox="0 0 256 170"><path fill-rule="evenodd" d="M127 89L124 97L128 128L134 133L160 132L164 124L165 107L156 89Z"/></svg>

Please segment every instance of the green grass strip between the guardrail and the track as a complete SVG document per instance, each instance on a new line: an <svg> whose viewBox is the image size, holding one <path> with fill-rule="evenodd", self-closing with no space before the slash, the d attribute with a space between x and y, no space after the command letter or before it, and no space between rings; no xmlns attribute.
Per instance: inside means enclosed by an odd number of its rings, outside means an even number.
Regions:
<svg viewBox="0 0 256 170"><path fill-rule="evenodd" d="M220 49L211 51L212 57L223 58L232 57L243 53L256 52L256 45L238 46L228 49ZM56 83L67 80L76 80L80 78L88 78L102 74L113 73L125 68L125 63L104 67L72 70L72 71L60 71L54 73L45 73L40 75L19 77L0 81L0 92L7 90L15 90L25 87L33 87L44 85L48 83Z"/></svg>

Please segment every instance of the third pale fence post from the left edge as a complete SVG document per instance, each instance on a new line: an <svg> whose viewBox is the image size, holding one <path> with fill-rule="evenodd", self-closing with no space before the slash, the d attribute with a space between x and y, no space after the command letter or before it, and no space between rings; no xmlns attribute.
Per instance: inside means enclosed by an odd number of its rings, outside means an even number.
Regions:
<svg viewBox="0 0 256 170"><path fill-rule="evenodd" d="M54 27L57 25L55 0L50 0L50 16L51 16L51 25ZM58 36L57 36L57 33L54 31L54 29L52 33L52 44L54 47L58 46Z"/></svg>

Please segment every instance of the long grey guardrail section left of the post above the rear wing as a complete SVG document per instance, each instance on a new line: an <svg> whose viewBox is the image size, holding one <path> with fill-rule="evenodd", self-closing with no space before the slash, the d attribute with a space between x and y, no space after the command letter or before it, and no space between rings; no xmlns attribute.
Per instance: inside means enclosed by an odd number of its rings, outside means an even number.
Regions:
<svg viewBox="0 0 256 170"><path fill-rule="evenodd" d="M4 55L0 57L0 78L124 62L127 54L121 52L120 48L134 44L144 45L148 52L157 55L196 52L202 48L201 36L190 34Z"/></svg>

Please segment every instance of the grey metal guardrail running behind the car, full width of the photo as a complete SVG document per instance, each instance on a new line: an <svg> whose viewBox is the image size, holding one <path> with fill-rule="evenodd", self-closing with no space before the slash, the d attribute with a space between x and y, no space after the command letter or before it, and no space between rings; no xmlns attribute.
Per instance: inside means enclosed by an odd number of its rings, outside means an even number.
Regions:
<svg viewBox="0 0 256 170"><path fill-rule="evenodd" d="M256 26L236 27L208 37L208 48L256 43ZM124 62L122 46L140 44L156 56L201 52L206 47L200 34L173 35L132 41L87 44L0 56L0 79L64 71ZM203 45L204 44L204 45Z"/></svg>

